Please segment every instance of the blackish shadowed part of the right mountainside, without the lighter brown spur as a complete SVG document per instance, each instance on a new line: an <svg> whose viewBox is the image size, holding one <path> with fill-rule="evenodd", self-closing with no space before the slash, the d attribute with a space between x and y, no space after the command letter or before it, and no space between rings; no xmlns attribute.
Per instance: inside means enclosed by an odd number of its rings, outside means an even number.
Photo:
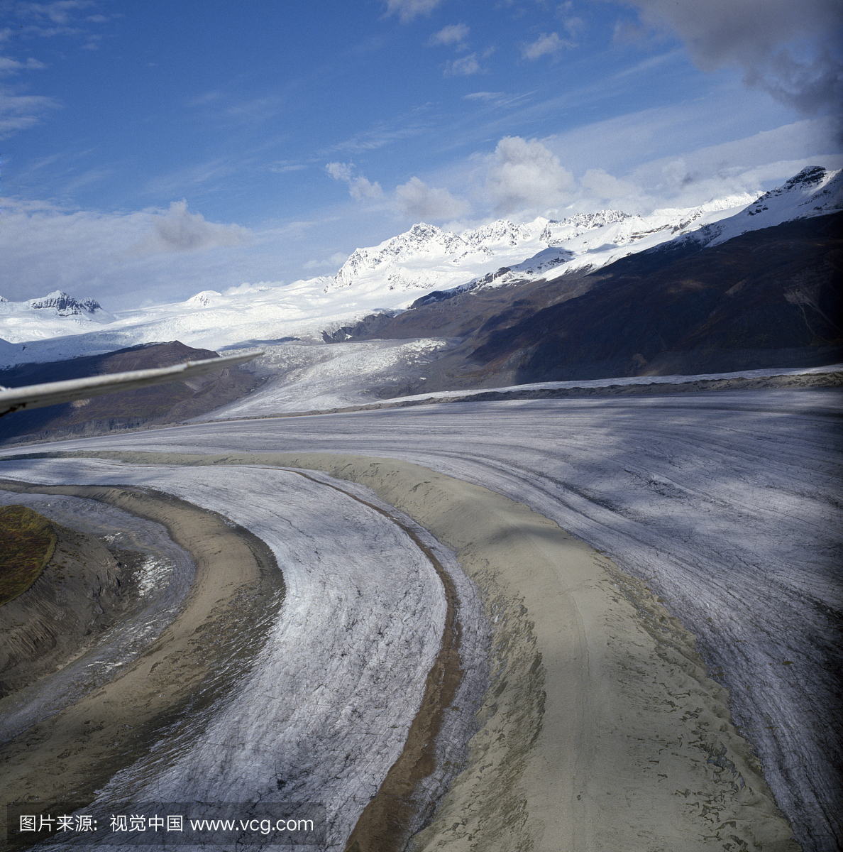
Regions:
<svg viewBox="0 0 843 852"><path fill-rule="evenodd" d="M840 216L826 218L656 268L650 256L617 262L580 298L491 331L473 359L509 362L516 383L840 360L843 239Z"/></svg>

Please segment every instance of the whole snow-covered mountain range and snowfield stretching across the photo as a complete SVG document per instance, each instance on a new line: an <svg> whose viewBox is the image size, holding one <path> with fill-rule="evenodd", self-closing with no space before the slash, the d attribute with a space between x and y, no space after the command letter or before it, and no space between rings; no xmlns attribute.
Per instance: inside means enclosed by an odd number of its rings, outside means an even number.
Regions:
<svg viewBox="0 0 843 852"><path fill-rule="evenodd" d="M380 245L357 249L333 277L283 287L240 285L202 291L185 302L112 316L92 300L55 291L28 302L0 302L0 366L58 360L162 340L201 348L298 339L380 311L397 312L425 292L497 287L597 269L669 242L713 245L780 222L843 207L843 175L806 169L759 199L714 199L648 216L600 210L554 221L497 220L462 233L423 222Z"/></svg>

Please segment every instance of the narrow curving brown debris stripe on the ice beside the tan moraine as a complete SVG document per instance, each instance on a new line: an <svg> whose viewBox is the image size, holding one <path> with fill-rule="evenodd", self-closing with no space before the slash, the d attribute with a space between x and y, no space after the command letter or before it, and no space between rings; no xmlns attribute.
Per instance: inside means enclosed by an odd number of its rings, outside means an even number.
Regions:
<svg viewBox="0 0 843 852"><path fill-rule="evenodd" d="M427 556L444 588L448 608L442 644L427 672L421 707L410 724L404 750L387 772L375 797L363 809L346 844L346 852L399 852L404 849L410 835L421 828L436 807L435 798L431 800L421 793L421 781L436 769L436 738L442 728L444 712L452 704L463 676L460 653L462 625L457 617L459 599L456 588L432 548L404 521L387 509L381 509L343 488L318 480L301 470L292 472L357 500L403 530ZM444 793L444 790L439 792Z"/></svg>

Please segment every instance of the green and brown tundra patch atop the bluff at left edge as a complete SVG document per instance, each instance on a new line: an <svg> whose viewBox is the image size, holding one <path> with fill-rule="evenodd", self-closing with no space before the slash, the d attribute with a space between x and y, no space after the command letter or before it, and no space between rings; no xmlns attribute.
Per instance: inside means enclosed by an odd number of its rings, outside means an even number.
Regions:
<svg viewBox="0 0 843 852"><path fill-rule="evenodd" d="M26 506L0 507L0 606L22 595L53 556L50 522Z"/></svg>

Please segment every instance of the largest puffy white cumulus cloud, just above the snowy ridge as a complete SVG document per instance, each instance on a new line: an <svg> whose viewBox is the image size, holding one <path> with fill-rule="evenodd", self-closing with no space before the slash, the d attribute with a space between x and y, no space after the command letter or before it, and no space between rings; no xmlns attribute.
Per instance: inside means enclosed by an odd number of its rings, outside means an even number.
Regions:
<svg viewBox="0 0 843 852"><path fill-rule="evenodd" d="M486 189L499 212L541 211L565 204L574 186L571 172L535 139L504 136L490 158Z"/></svg>

